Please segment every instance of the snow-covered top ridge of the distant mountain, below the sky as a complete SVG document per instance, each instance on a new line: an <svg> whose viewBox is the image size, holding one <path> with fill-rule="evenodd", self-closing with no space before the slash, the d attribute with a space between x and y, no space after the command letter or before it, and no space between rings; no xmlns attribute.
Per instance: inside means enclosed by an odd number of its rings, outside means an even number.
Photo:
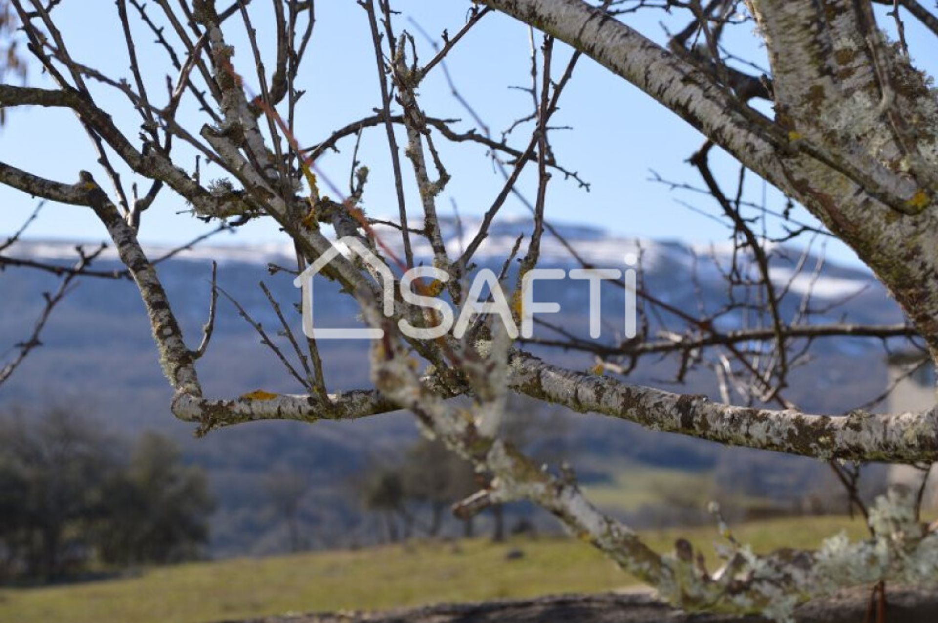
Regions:
<svg viewBox="0 0 938 623"><path fill-rule="evenodd" d="M422 227L422 223L413 223L413 227ZM523 255L526 241L530 234L531 221L502 220L492 223L489 235L482 242L474 261L478 265L501 266L508 253L514 247L518 236L524 235L522 247L519 252ZM471 243L477 234L478 222L463 220L441 221L441 229L446 250L451 258L459 257L461 252ZM734 250L729 242L712 245L688 245L676 241L637 239L626 236L613 236L608 232L595 227L564 224L556 226L563 241L550 232L545 231L541 239L540 264L541 266L572 266L577 261L567 251L566 241L580 256L582 261L597 267L623 268L627 253L635 253L642 258L641 268L648 275L666 275L672 279L687 279L696 273L701 282L711 283L722 281L724 274L733 262ZM397 229L386 225L375 225L374 231L381 236L385 244L399 257L402 257L401 234ZM432 250L430 243L419 236L411 236L414 254L418 262L430 264ZM8 250L14 257L45 261L53 263L73 262L76 242L47 241L47 240L21 240ZM87 248L95 248L94 242L81 243ZM157 259L175 247L168 245L146 245L144 251L151 259ZM875 280L868 273L858 270L848 270L840 266L827 264L821 275L812 275L813 258L805 263L808 268L799 275L794 275L794 264L799 257L799 251L787 251L779 255L773 262L772 279L781 287L785 287L794 295L801 295L809 290L813 296L819 298L840 298L851 296L864 288L870 287ZM739 251L736 251L739 255ZM225 264L250 264L265 266L266 264L280 264L288 266L294 261L295 251L293 243L289 240L283 242L269 242L264 244L217 244L208 240L192 249L179 251L174 255L174 261L188 261L208 263L211 260ZM113 247L109 247L101 255L101 260L116 261L117 254Z"/></svg>

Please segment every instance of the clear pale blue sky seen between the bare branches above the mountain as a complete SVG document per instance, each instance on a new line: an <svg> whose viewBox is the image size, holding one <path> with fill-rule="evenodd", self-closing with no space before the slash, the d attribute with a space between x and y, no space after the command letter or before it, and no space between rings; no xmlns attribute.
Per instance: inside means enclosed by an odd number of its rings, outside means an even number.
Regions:
<svg viewBox="0 0 938 623"><path fill-rule="evenodd" d="M401 0L397 22L402 28L416 29L408 18L413 17L429 33L438 36L444 28L456 32L470 7L463 0ZM149 5L157 18L158 8ZM132 11L132 8L130 9ZM269 42L269 5L254 2L251 17L261 33L262 42ZM99 68L115 77L130 78L129 61L116 18L113 0L71 0L55 9L69 51L85 65ZM132 13L131 13L132 14ZM670 21L669 21L670 20ZM643 10L628 16L627 23L637 27L646 36L663 41L666 38L662 23L677 30L685 20L673 20L660 10ZM891 21L882 18L888 30ZM151 98L160 105L165 102L165 76L174 76L165 53L151 44L152 34L143 24L134 21L134 35L140 42L145 80ZM229 41L235 46L235 67L248 81L252 61L250 48L244 38L243 27L232 20ZM910 46L924 55L930 44L927 34L912 20L906 20ZM734 49L737 53L751 53L763 59L751 26L733 29ZM431 49L426 40L416 34L418 53L427 60ZM539 45L539 37L537 38ZM527 86L529 77L529 32L526 26L503 15L486 16L461 45L448 57L448 67L461 95L468 99L477 113L499 132L512 119L530 111L530 96L509 86ZM269 58L271 46L264 49ZM563 44L555 47L554 75L559 77L566 65L569 49ZM268 68L272 60L266 62ZM920 64L934 72L935 59ZM365 12L354 0L320 0L317 3L317 22L310 52L301 72L309 92L301 102L297 136L302 144L314 144L335 129L371 114L380 102L371 39ZM30 84L52 86L36 67L30 73ZM122 95L109 87L92 84L98 105L113 114L115 121L136 136L138 117ZM469 116L454 99L446 86L443 72L437 68L422 86L421 103L426 114L438 117L460 117L460 129L470 128ZM181 120L193 133L202 123L197 110L189 105L180 114ZM622 236L683 239L694 243L726 240L729 231L719 222L688 210L688 203L709 214L717 214L717 207L700 196L688 192L669 190L666 185L651 181L651 171L675 182L699 185L698 176L686 162L688 156L702 143L702 137L686 123L660 107L638 89L613 76L589 59L583 59L573 80L561 99L561 110L553 121L572 126L572 130L554 132L552 143L559 159L568 169L581 173L592 185L586 192L573 181L564 181L554 175L547 200L547 217L557 222L576 222L606 228ZM512 136L513 144L526 143L530 126L518 129ZM401 139L401 144L403 143ZM354 142L340 144L340 154L329 154L320 161L326 175L341 188L347 187L349 165ZM492 202L501 187L501 176L492 169L482 147L465 144L440 144L441 153L452 181L441 197L442 212L450 210L451 201L459 205L461 214L481 214ZM179 148L177 163L188 170L194 167L191 150ZM18 109L8 115L7 126L0 129L0 159L37 175L59 181L77 180L80 169L89 169L109 189L103 173L96 168L94 152L74 115L64 110ZM384 129L366 131L362 138L358 160L371 170L370 183L365 195L365 208L372 216L396 214L393 179L390 175ZM404 161L406 167L407 162ZM529 166L528 175L522 177L522 189L533 197L535 167ZM720 181L732 188L736 178L734 163L720 157L717 161ZM203 179L220 176L219 170L203 171ZM419 215L419 203L412 175L405 169L408 205L412 215ZM133 175L122 170L129 191ZM146 185L141 181L141 193ZM782 199L770 188L764 189L761 180L752 176L750 198L758 199L765 193L767 205L780 209ZM8 234L25 220L36 201L23 193L0 188L0 235ZM171 192L164 191L159 201L144 213L141 238L145 242L178 243L208 229L194 220L185 203ZM526 210L520 203L510 200L506 214L522 215ZM797 218L813 222L804 210ZM101 225L90 210L70 205L48 205L29 231L32 237L100 240L106 237ZM250 223L234 236L217 238L220 242L267 242L282 234L270 220ZM831 259L854 263L853 253L840 244L828 245Z"/></svg>

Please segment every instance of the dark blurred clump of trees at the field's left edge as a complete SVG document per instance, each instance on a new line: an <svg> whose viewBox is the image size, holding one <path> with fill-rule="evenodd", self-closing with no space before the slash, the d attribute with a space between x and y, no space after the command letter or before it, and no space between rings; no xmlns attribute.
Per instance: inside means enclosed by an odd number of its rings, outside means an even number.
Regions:
<svg viewBox="0 0 938 623"><path fill-rule="evenodd" d="M0 574L49 580L98 559L197 557L213 509L201 468L173 441L131 448L61 407L0 417ZM129 458L128 458L129 457Z"/></svg>

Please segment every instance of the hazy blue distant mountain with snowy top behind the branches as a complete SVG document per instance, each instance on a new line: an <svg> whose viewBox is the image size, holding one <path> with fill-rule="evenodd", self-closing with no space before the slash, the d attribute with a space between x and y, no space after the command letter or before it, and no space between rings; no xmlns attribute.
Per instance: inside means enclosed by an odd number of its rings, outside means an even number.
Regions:
<svg viewBox="0 0 938 623"><path fill-rule="evenodd" d="M471 240L476 223L444 223L446 247L458 254ZM530 223L524 220L496 223L477 252L478 266L498 268L520 234ZM400 234L379 228L391 245ZM627 252L642 258L644 287L669 305L697 313L719 309L726 300L724 276L732 265L734 251L728 246L693 247L678 242L634 240L612 236L601 230L565 225L561 236L595 266L623 267ZM27 240L7 253L11 256L69 265L74 261L73 242ZM170 251L147 247L151 258ZM416 255L430 262L425 243L415 245ZM803 296L813 292L813 309L821 311L814 322L834 322L846 318L857 323L901 321L897 306L869 273L820 263L814 256L779 249L772 266L773 281L787 292L782 309L786 314L803 305ZM523 246L522 246L523 253ZM542 243L542 266L577 266L565 244L551 234ZM159 265L162 279L189 343L199 340L209 298L209 263L219 261L219 284L234 296L272 334L278 321L258 288L265 281L285 310L298 300L293 275L270 275L268 264L295 263L292 246L269 244L251 246L203 245L182 251ZM294 265L295 266L295 265ZM797 266L808 266L805 274L794 277ZM815 271L815 266L819 270ZM117 270L113 250L96 262L98 270ZM0 273L0 353L28 335L42 308L40 293L55 287L53 276L34 269L10 268ZM317 282L316 319L324 326L348 326L355 322L356 304L340 295L336 286ZM561 302L560 321L567 330L587 334L586 285L570 282L544 282L538 290L541 300ZM842 306L825 308L844 299ZM621 318L622 291L603 289L604 310L609 318ZM608 306L608 307L607 307ZM618 315L617 315L618 314ZM742 312L725 317L721 328L744 324ZM299 315L292 314L293 326L300 331ZM658 322L658 321L656 321ZM664 323L679 323L663 318ZM615 322L604 327L609 337L620 331ZM393 460L416 437L411 419L403 414L367 418L355 422L320 422L303 425L289 422L252 423L221 430L206 438L191 438L191 425L176 421L168 411L172 392L162 378L156 351L150 337L139 296L126 280L83 279L56 309L42 336L43 346L23 364L0 389L0 406L68 403L74 408L98 414L110 428L128 435L144 429L168 433L182 441L190 462L204 465L219 495L220 509L213 522L213 546L218 555L275 551L283 546L282 525L272 514L264 491L264 476L278 464L286 464L310 475L310 494L304 504L303 522L315 543L334 539L356 539L367 521L356 507L351 479L374 462ZM206 393L236 396L264 388L295 392L299 389L269 353L253 329L237 316L233 306L219 301L219 318L208 354L199 364ZM323 342L325 376L330 388L367 387L364 362L367 344ZM812 351L814 361L794 372L791 397L804 408L839 412L870 399L885 387L882 347L876 340L838 339L818 342ZM539 353L567 365L586 368L589 357L562 352ZM855 362L862 360L863 365ZM673 374L673 364L649 360L631 377L636 382L661 384ZM712 379L703 373L688 378L682 390L713 393ZM582 471L601 473L619 460L639 463L685 466L693 469L719 468L719 465L747 464L754 453L724 449L675 435L648 433L625 422L593 416L565 416L565 448ZM753 461L764 464L764 455ZM802 486L813 473L814 464L775 457L773 464L793 475L792 487ZM755 463L753 463L755 464ZM717 469L719 472L719 469ZM725 470L724 470L725 471ZM745 470L744 470L745 471ZM766 478L772 469L764 469ZM800 475L800 476L799 476ZM751 486L769 486L758 476ZM798 484L798 482L802 484ZM773 481L770 486L778 487ZM349 536L351 535L351 537ZM316 540L318 539L318 540Z"/></svg>

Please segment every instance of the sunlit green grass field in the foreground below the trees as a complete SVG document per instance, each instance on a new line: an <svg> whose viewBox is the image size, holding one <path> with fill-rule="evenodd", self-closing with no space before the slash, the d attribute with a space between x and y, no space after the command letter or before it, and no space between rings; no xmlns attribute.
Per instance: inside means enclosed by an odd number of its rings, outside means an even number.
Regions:
<svg viewBox="0 0 938 623"><path fill-rule="evenodd" d="M820 517L744 524L734 535L765 552L780 546L817 547L840 529L852 538L865 534L861 521ZM645 534L661 551L684 536L709 553L718 539L713 528ZM507 560L507 551L514 548L524 555ZM0 589L0 621L214 621L291 611L373 610L597 592L634 584L598 552L571 539L518 539L499 545L484 539L421 542L192 563L81 585Z"/></svg>

